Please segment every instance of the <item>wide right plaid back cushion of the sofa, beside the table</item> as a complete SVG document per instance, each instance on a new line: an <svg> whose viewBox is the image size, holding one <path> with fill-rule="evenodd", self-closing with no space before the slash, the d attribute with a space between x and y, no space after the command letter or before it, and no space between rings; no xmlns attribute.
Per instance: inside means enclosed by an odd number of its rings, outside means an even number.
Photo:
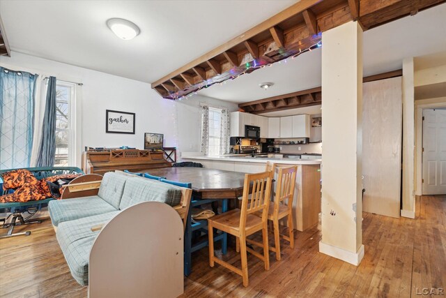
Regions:
<svg viewBox="0 0 446 298"><path fill-rule="evenodd" d="M140 202L162 202L171 206L180 204L181 190L177 186L152 179L132 177L125 182L119 209L123 210Z"/></svg>

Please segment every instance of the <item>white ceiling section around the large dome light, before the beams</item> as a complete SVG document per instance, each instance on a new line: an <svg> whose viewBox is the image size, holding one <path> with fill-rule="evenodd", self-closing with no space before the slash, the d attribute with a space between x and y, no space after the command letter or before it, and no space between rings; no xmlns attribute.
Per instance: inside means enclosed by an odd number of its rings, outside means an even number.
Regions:
<svg viewBox="0 0 446 298"><path fill-rule="evenodd" d="M154 82L295 2L0 0L0 16L13 51ZM112 17L141 34L117 38Z"/></svg>

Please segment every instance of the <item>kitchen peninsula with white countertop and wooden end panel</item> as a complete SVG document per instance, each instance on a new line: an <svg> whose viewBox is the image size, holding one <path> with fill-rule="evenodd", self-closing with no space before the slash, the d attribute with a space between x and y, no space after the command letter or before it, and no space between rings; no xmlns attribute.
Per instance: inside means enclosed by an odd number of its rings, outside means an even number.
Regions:
<svg viewBox="0 0 446 298"><path fill-rule="evenodd" d="M298 159L252 156L182 156L182 161L201 163L203 167L235 172L256 173L270 161L279 167L298 166L293 200L294 228L304 231L316 225L321 212L321 159ZM286 225L284 221L282 223Z"/></svg>

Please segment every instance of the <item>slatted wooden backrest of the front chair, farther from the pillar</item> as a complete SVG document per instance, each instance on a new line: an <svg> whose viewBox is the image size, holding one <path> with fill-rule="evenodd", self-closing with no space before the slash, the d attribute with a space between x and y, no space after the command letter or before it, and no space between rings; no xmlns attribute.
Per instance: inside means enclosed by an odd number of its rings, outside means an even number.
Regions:
<svg viewBox="0 0 446 298"><path fill-rule="evenodd" d="M240 230L245 230L247 215L257 211L262 211L262 221L266 222L270 203L271 183L272 172L270 171L245 174L242 208L240 211ZM250 200L249 191L252 191Z"/></svg>

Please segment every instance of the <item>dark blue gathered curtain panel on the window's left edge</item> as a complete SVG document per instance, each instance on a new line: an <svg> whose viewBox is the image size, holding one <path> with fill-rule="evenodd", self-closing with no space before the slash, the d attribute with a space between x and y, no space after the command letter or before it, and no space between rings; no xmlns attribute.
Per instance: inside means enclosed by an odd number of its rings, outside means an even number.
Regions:
<svg viewBox="0 0 446 298"><path fill-rule="evenodd" d="M56 77L49 77L45 114L43 116L42 140L36 166L52 167L56 157Z"/></svg>

